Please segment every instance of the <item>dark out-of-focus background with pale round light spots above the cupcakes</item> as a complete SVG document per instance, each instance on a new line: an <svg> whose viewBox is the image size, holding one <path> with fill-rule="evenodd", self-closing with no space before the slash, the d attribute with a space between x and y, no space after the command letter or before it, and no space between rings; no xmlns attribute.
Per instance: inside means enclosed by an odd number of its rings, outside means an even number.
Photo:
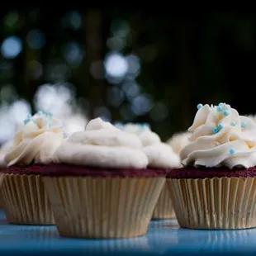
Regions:
<svg viewBox="0 0 256 256"><path fill-rule="evenodd" d="M187 130L198 103L255 113L254 15L117 7L0 14L0 142L39 109L70 133L101 116L147 122L163 140Z"/></svg>

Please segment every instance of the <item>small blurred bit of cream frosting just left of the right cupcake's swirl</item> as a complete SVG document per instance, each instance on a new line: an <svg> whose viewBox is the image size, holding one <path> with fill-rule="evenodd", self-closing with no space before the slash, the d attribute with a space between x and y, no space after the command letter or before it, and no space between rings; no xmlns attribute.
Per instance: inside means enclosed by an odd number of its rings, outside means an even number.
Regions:
<svg viewBox="0 0 256 256"><path fill-rule="evenodd" d="M191 132L183 131L175 133L166 143L170 145L176 154L180 154L181 150L189 144Z"/></svg>

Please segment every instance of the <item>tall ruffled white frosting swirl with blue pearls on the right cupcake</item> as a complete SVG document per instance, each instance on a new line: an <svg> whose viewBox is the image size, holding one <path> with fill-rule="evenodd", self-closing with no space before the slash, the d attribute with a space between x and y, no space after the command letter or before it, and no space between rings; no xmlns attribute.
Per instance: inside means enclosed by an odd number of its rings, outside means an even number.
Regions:
<svg viewBox="0 0 256 256"><path fill-rule="evenodd" d="M254 167L256 165L256 124L230 105L204 105L195 116L191 143L180 157L195 167Z"/></svg>

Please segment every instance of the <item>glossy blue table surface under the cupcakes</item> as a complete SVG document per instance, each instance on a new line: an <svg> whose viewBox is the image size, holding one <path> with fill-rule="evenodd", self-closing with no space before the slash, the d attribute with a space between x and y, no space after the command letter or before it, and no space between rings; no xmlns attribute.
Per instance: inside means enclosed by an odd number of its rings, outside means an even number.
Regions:
<svg viewBox="0 0 256 256"><path fill-rule="evenodd" d="M0 210L0 255L256 255L256 229L186 230L176 220L152 220L132 239L70 239L55 226L9 225Z"/></svg>

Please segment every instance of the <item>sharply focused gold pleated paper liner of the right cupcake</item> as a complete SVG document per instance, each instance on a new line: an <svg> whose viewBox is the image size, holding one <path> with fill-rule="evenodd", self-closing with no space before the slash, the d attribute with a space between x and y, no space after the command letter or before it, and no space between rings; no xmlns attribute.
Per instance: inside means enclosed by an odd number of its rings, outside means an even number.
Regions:
<svg viewBox="0 0 256 256"><path fill-rule="evenodd" d="M170 197L184 228L237 230L256 226L255 178L168 178Z"/></svg>

